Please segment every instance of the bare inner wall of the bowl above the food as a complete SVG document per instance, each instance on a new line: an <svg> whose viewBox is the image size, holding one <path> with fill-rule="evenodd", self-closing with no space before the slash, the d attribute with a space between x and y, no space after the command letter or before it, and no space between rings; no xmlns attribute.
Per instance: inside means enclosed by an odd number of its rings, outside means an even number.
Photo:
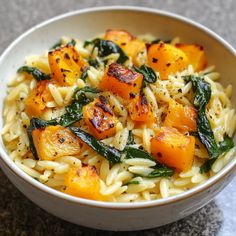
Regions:
<svg viewBox="0 0 236 236"><path fill-rule="evenodd" d="M18 38L3 54L0 59L0 110L3 110L3 100L6 96L7 81L15 74L16 70L24 63L24 58L31 54L42 54L50 48L61 36L70 36L85 40L104 32L109 28L121 28L134 35L150 33L157 38L171 39L180 37L181 42L198 43L206 49L209 65L216 66L216 71L221 73L221 82L224 85L232 84L236 68L236 56L233 49L218 36L209 33L201 26L194 26L185 22L181 17L171 16L163 12L151 10L130 9L103 9L82 11L82 13L69 13L42 23L30 32ZM232 100L236 100L236 92ZM233 103L236 108L236 103ZM3 120L0 117L0 128ZM4 149L2 139L1 147ZM6 154L4 155L6 158ZM4 159L3 156L3 159ZM17 167L15 167L17 168Z"/></svg>

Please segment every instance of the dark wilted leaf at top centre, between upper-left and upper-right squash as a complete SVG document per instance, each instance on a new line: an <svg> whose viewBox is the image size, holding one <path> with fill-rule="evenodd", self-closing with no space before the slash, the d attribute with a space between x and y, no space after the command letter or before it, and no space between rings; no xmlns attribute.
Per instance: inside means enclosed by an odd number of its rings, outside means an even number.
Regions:
<svg viewBox="0 0 236 236"><path fill-rule="evenodd" d="M94 39L92 41L95 47L98 48L98 56L99 57L105 57L110 55L111 53L119 53L120 56L117 60L117 63L123 64L126 62L129 57L124 53L124 51L114 42L110 40L104 40L104 39Z"/></svg>

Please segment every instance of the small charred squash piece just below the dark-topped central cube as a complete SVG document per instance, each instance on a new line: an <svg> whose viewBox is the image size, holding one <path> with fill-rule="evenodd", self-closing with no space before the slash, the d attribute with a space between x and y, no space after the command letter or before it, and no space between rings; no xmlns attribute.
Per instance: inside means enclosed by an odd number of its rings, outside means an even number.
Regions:
<svg viewBox="0 0 236 236"><path fill-rule="evenodd" d="M136 96L128 105L129 115L132 120L145 123L154 121L152 108L145 95Z"/></svg>

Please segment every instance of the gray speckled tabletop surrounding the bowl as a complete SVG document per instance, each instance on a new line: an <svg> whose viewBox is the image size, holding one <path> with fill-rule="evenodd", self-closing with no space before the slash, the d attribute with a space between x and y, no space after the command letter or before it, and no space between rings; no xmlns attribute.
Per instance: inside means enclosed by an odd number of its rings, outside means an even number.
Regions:
<svg viewBox="0 0 236 236"><path fill-rule="evenodd" d="M85 7L139 5L168 10L204 24L236 47L235 0L0 0L0 53L17 36L52 16ZM133 233L104 232L60 220L26 199L0 170L0 235L235 235L236 180L183 220Z"/></svg>

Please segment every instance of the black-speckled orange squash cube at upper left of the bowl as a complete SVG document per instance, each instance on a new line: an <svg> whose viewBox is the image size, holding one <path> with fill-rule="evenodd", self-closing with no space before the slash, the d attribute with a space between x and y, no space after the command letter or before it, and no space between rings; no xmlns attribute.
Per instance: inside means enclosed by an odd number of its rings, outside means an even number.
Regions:
<svg viewBox="0 0 236 236"><path fill-rule="evenodd" d="M81 76L88 63L70 44L48 53L52 79L62 86L71 86Z"/></svg>

